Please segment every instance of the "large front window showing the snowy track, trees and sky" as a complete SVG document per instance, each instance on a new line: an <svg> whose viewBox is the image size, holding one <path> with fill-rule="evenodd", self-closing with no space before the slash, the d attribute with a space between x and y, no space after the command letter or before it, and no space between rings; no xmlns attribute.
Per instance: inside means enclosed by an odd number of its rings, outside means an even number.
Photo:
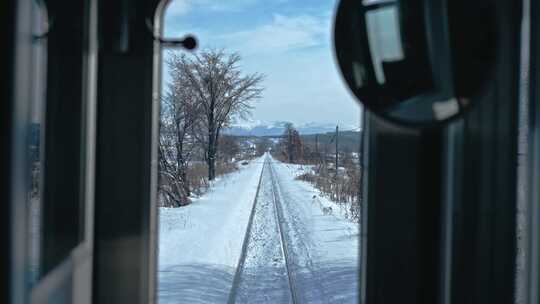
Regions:
<svg viewBox="0 0 540 304"><path fill-rule="evenodd" d="M167 6L163 37L199 45L161 48L160 303L358 301L362 109L334 6Z"/></svg>

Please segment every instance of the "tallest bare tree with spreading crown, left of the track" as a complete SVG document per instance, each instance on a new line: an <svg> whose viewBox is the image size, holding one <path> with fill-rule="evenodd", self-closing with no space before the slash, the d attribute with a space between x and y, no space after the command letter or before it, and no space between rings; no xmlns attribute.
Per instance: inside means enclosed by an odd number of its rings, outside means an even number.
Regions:
<svg viewBox="0 0 540 304"><path fill-rule="evenodd" d="M175 69L185 77L186 90L203 113L198 138L205 147L208 179L213 180L220 132L234 117L245 118L251 113L252 102L261 97L263 76L243 75L240 56L223 50L203 50L179 59Z"/></svg>

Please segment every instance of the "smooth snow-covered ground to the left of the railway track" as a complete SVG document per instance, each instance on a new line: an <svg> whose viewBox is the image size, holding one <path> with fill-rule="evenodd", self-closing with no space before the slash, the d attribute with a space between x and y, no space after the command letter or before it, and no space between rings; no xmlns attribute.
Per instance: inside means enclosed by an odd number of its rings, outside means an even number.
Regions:
<svg viewBox="0 0 540 304"><path fill-rule="evenodd" d="M261 170L256 159L192 204L160 208L160 304L227 301Z"/></svg>

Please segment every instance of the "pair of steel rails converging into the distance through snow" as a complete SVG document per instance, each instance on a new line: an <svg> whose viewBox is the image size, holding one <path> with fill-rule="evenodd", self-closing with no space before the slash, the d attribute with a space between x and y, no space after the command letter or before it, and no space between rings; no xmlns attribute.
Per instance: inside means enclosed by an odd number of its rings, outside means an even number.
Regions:
<svg viewBox="0 0 540 304"><path fill-rule="evenodd" d="M264 174L267 174L267 176L270 178L270 193L272 194L272 204L274 206L274 210L275 212L274 213L274 217L275 217L275 221L276 221L276 226L277 226L277 231L278 231L278 239L279 239L279 245L280 245L280 251L281 251L281 255L283 257L283 261L284 261L284 268L285 268L285 275L287 276L286 278L286 281L287 281L287 286L289 288L289 293L290 293L290 303L293 303L293 304L296 304L298 303L298 298L297 298L297 293L296 293L296 284L295 284L295 277L294 277L294 274L293 274L293 271L291 269L291 265L292 265L292 261L291 261L291 258L290 258L290 247L287 243L287 239L286 239L286 235L285 235L285 230L284 230L284 227L283 227L283 218L284 218L284 215L283 215L283 208L282 208L282 205L281 205L281 196L280 196L280 190L279 190L279 184L277 182L277 177L275 175L275 172L274 172L274 169L272 167L272 163L271 163L271 160L270 160L270 157L266 157L265 158L265 161L264 161L264 164L263 164L263 168L261 170L261 175L259 177L259 184L258 184L258 187L257 187L257 191L256 191L256 194L255 194L255 199L254 199L254 202L253 202L253 207L252 207L252 210L251 210L251 214L250 214L250 218L249 218L249 221L248 221L248 227L246 229L246 234L244 235L244 242L243 242L243 245L242 245L242 252L240 254L240 259L238 261L238 267L236 269L236 272L235 272L235 275L234 275L234 278L233 278L233 284L232 284L232 287L231 287L231 291L229 293L229 298L228 298L228 303L229 304L233 304L233 303L236 303L237 300L238 300L238 290L239 290L239 287L240 287L240 282L242 280L242 276L244 275L244 271L245 271L245 262L246 262L246 257L248 255L248 245L249 245L249 240L250 240L250 235L253 231L252 229L252 226L253 226L253 219L255 217L255 213L257 212L257 205L258 205L258 202L260 200L260 192L261 192L261 187L264 186L263 183L262 183L262 180L263 180L263 176ZM266 186L268 186L267 184L265 184Z"/></svg>

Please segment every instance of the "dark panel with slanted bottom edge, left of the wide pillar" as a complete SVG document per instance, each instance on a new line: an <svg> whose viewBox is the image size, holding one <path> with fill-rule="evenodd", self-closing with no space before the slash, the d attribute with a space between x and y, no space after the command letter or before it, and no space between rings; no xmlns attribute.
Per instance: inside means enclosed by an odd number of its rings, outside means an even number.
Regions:
<svg viewBox="0 0 540 304"><path fill-rule="evenodd" d="M55 11L48 31L45 10L34 35L33 88L41 98L39 116L41 157L40 275L69 258L84 236L83 189L85 146L85 73L87 52L85 5ZM71 24L71 27L55 26ZM78 34L73 30L79 31ZM69 36L69 43L65 37ZM45 144L46 142L46 144Z"/></svg>

